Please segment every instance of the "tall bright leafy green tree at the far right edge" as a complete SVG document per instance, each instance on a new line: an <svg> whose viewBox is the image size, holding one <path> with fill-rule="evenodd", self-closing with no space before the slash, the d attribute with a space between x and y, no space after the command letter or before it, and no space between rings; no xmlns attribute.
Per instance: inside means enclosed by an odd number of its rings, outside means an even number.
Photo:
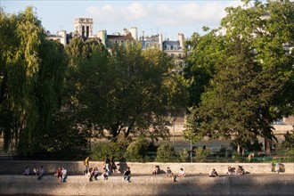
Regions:
<svg viewBox="0 0 294 196"><path fill-rule="evenodd" d="M249 1L245 1L249 5ZM294 4L291 1L256 1L252 8L228 8L222 25L228 37L241 37L251 43L258 72L258 132L265 137L265 151L271 151L274 138L271 122L293 113ZM279 20L280 19L280 20Z"/></svg>

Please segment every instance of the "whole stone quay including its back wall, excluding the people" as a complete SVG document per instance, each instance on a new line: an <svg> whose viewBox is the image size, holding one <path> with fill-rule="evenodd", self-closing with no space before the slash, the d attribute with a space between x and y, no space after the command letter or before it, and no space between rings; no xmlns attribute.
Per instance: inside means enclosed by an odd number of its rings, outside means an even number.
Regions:
<svg viewBox="0 0 294 196"><path fill-rule="evenodd" d="M119 173L103 180L89 182L82 175L82 161L17 161L1 160L0 195L293 195L294 163L283 163L280 174L272 172L270 163L124 163L117 162ZM26 166L42 165L46 175L23 176ZM154 165L160 174L151 175ZM247 171L244 176L227 176L227 166L241 165ZM61 183L53 176L55 167L68 169L68 180ZM90 167L102 162L90 161ZM123 181L121 169L131 167L131 183ZM174 182L166 177L164 170L170 167L177 174L184 167L186 177ZM14 167L14 170L10 170ZM208 169L215 167L220 177L208 177ZM21 169L21 171L20 171ZM11 171L9 173L9 171Z"/></svg>

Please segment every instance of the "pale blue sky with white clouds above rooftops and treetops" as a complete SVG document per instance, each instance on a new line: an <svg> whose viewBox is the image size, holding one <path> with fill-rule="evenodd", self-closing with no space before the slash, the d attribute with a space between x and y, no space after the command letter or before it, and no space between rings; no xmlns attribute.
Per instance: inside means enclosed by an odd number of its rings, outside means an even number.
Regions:
<svg viewBox="0 0 294 196"><path fill-rule="evenodd" d="M203 26L216 29L225 17L225 7L241 4L240 0L0 0L6 13L23 12L33 6L51 34L72 32L76 18L92 18L93 34L103 29L111 35L136 27L139 37L144 31L144 36L161 33L164 39L175 41L178 33L189 38L194 32L203 34Z"/></svg>

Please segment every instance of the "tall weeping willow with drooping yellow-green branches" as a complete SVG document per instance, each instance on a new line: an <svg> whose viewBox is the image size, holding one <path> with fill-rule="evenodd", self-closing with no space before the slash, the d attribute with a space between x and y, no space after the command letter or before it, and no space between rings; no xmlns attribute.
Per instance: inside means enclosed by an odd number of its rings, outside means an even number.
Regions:
<svg viewBox="0 0 294 196"><path fill-rule="evenodd" d="M0 12L0 45L0 134L4 151L26 156L42 150L60 105L66 54L46 40L32 7Z"/></svg>

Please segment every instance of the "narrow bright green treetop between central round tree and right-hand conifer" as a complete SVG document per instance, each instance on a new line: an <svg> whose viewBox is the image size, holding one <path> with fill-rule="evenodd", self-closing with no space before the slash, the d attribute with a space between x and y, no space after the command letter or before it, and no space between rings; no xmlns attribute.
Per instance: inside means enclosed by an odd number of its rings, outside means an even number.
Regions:
<svg viewBox="0 0 294 196"><path fill-rule="evenodd" d="M215 37L214 32L200 36L194 33L188 44L192 45L192 51L185 60L184 78L188 89L188 106L197 106L200 96L205 92L210 79L215 74L216 61L219 59L219 51L222 50L222 37Z"/></svg>

